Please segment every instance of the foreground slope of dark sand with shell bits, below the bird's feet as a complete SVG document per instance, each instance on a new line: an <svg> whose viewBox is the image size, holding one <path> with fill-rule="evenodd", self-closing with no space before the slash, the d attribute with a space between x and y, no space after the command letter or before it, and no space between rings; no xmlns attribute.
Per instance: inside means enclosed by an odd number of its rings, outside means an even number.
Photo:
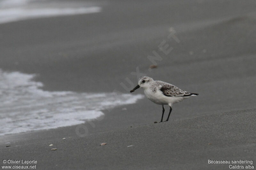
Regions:
<svg viewBox="0 0 256 170"><path fill-rule="evenodd" d="M13 135L17 142L1 144L1 153L5 159L35 159L37 169L229 169L231 164L208 159L254 161L255 113L210 114L86 137L72 136L72 127Z"/></svg>

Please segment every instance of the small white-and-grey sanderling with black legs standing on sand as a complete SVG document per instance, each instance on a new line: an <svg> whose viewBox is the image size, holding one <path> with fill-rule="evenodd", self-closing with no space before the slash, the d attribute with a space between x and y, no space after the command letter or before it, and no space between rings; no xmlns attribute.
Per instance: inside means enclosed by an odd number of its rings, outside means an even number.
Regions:
<svg viewBox="0 0 256 170"><path fill-rule="evenodd" d="M154 81L151 77L146 76L140 77L138 85L130 92L132 93L140 87L144 89L144 93L150 101L162 105L163 113L160 122L163 121L164 105L168 104L170 106L170 112L166 119L166 121L168 121L172 112L172 104L180 102L188 97L198 95L196 93L189 93L181 90L178 87L164 81Z"/></svg>

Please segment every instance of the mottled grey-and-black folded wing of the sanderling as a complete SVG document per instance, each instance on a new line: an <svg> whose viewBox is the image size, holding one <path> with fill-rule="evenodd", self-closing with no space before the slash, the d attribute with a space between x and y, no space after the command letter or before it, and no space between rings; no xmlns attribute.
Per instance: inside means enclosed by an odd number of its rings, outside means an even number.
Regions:
<svg viewBox="0 0 256 170"><path fill-rule="evenodd" d="M182 97L182 96L191 96L191 93L188 93L187 91L181 90L178 87L163 82L163 81L157 81L157 83L160 85L160 90L163 92L164 96L168 97Z"/></svg>

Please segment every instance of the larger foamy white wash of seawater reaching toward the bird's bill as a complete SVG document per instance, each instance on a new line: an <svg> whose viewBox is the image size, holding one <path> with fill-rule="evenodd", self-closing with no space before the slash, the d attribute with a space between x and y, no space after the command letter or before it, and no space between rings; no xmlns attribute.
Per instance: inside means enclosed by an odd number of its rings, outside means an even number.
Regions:
<svg viewBox="0 0 256 170"><path fill-rule="evenodd" d="M142 95L45 91L36 74L0 69L0 135L82 124ZM104 121L104 120L102 120Z"/></svg>

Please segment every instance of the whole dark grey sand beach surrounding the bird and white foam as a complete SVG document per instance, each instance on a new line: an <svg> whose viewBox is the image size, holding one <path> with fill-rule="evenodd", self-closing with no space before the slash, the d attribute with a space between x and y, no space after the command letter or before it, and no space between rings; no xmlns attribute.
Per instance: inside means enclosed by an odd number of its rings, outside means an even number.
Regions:
<svg viewBox="0 0 256 170"><path fill-rule="evenodd" d="M145 97L82 125L0 136L1 159L35 159L36 169L229 169L208 159L255 164L255 1L91 3L102 11L0 24L0 68L36 73L44 90L78 93L129 93L139 68L199 96L174 104L168 122L154 124L162 108ZM163 41L173 48L168 55L158 48ZM153 50L162 60L148 71Z"/></svg>

